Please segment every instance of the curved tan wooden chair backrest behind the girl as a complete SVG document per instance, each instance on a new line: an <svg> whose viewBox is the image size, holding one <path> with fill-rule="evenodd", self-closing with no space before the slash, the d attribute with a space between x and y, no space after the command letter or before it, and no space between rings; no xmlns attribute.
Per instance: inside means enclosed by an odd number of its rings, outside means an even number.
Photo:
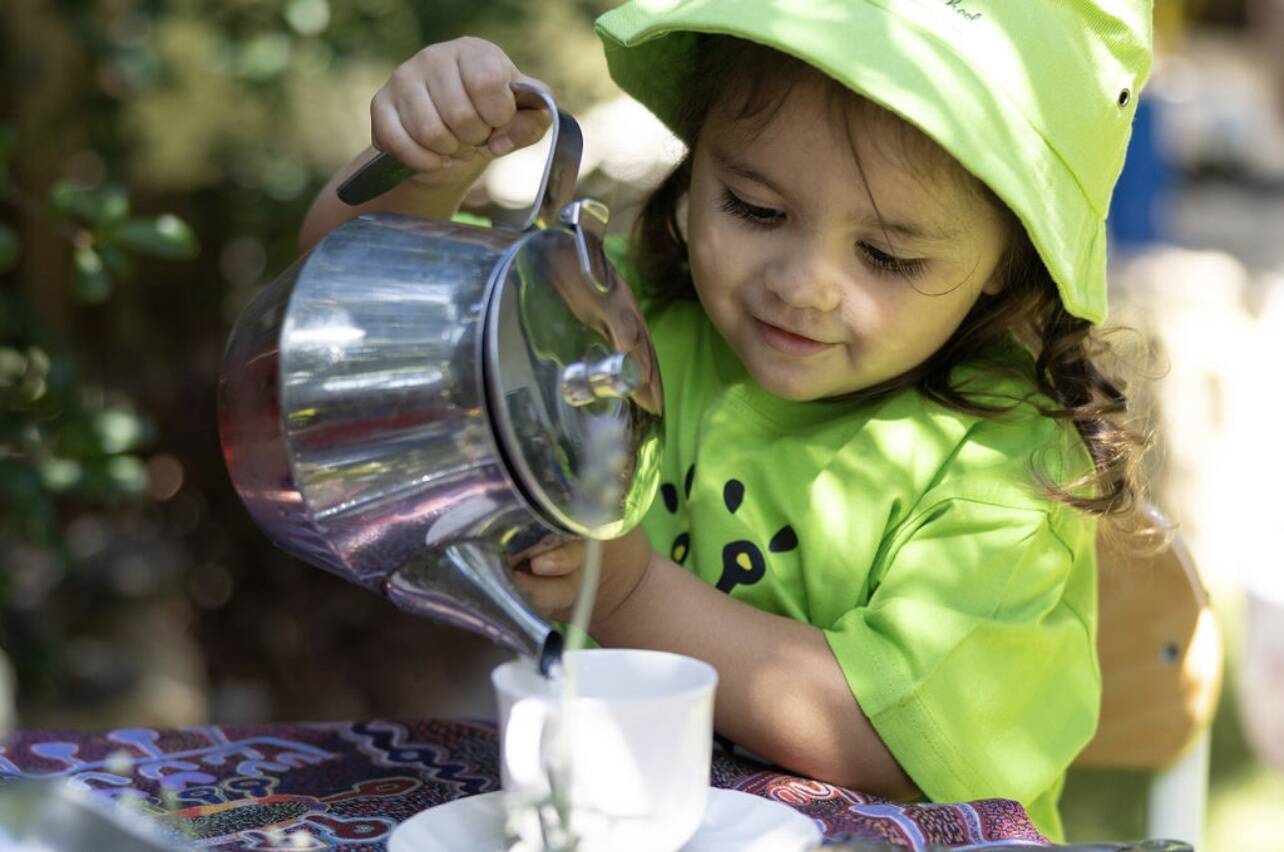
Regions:
<svg viewBox="0 0 1284 852"><path fill-rule="evenodd" d="M1144 556L1100 539L1097 558L1102 716L1075 766L1163 769L1217 706L1222 645L1208 593L1176 535Z"/></svg>

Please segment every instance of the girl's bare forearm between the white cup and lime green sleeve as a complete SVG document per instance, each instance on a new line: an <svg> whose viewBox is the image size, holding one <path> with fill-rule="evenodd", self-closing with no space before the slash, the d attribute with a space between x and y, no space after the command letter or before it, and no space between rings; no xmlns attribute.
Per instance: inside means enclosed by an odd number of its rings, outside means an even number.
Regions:
<svg viewBox="0 0 1284 852"><path fill-rule="evenodd" d="M655 554L592 634L711 663L718 731L785 769L887 798L917 793L811 625L741 603Z"/></svg>

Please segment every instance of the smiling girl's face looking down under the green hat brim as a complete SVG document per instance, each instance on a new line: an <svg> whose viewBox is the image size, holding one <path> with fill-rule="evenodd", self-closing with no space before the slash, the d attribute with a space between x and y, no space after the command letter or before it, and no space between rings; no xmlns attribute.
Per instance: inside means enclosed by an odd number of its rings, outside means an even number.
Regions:
<svg viewBox="0 0 1284 852"><path fill-rule="evenodd" d="M851 110L849 136L808 81L756 135L715 110L693 151L696 291L750 375L786 399L917 367L1000 289L999 210L872 112Z"/></svg>

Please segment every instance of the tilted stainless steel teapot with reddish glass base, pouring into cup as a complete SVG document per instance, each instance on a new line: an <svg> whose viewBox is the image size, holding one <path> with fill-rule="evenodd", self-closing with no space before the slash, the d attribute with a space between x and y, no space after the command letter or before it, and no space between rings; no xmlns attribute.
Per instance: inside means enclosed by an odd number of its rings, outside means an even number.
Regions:
<svg viewBox="0 0 1284 852"><path fill-rule="evenodd" d="M218 426L232 484L279 547L547 669L561 636L510 563L641 521L663 393L602 251L606 208L571 198L579 126L524 89L556 115L524 226L339 226L238 318ZM340 198L407 175L377 157Z"/></svg>

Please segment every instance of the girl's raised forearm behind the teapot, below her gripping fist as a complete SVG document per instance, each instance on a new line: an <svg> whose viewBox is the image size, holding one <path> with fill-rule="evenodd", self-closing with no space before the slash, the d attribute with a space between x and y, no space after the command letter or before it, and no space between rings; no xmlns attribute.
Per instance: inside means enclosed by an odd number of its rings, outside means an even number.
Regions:
<svg viewBox="0 0 1284 852"><path fill-rule="evenodd" d="M333 228L360 213L381 210L389 213L413 213L415 216L433 219L448 219L460 209L460 204L464 201L464 196L467 195L469 187L480 177L488 162L478 158L475 162L452 163L448 175L434 173L431 177L415 176L404 181L401 186L360 207L344 204L335 194L339 185L374 155L375 150L367 148L354 157L351 163L330 178L330 182L326 183L316 200L312 201L312 207L308 209L308 214L299 227L300 253L311 249Z"/></svg>

